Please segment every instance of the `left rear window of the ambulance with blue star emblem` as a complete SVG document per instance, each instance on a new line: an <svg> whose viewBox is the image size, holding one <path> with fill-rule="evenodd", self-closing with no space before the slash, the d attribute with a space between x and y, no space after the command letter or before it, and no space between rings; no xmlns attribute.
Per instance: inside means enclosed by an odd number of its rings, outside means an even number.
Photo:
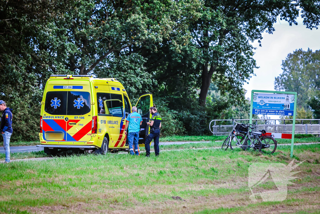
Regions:
<svg viewBox="0 0 320 214"><path fill-rule="evenodd" d="M67 91L48 91L45 95L44 111L51 115L66 115Z"/></svg>

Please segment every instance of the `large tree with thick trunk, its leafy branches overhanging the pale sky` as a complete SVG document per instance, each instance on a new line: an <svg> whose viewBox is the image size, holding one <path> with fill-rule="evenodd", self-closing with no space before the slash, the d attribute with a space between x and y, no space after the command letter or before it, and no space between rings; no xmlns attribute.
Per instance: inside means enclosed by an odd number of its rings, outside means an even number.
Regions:
<svg viewBox="0 0 320 214"><path fill-rule="evenodd" d="M298 7L307 28L317 28L318 1L204 1L202 16L190 22L192 42L202 54L200 105L205 105L212 80L241 98L242 85L256 68L250 41L260 42L263 32L272 33L278 16L297 24Z"/></svg>

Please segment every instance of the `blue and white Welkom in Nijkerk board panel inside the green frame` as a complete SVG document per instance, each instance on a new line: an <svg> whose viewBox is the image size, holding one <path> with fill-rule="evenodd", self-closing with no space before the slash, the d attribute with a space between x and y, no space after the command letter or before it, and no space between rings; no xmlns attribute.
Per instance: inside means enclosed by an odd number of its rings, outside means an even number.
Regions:
<svg viewBox="0 0 320 214"><path fill-rule="evenodd" d="M252 114L293 116L294 94L253 93Z"/></svg>

